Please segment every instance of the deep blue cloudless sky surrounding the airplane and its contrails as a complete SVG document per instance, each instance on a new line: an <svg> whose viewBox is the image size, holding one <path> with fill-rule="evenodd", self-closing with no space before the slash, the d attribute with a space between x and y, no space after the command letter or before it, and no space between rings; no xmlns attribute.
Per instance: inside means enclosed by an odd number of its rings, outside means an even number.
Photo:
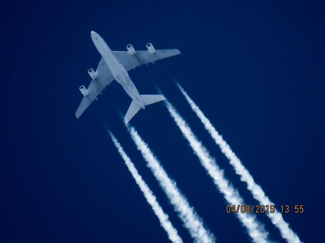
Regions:
<svg viewBox="0 0 325 243"><path fill-rule="evenodd" d="M187 231L115 107L131 99L112 83L76 119L89 68L131 43L182 54L129 72L141 94L156 84L216 157L248 204L257 204L173 82L211 119L270 199L304 205L284 219L304 242L325 242L324 5L321 1L7 1L0 9L2 119L0 242L166 242L106 133L121 142L185 242ZM219 242L249 242L163 103L131 124ZM279 231L265 215L270 238Z"/></svg>

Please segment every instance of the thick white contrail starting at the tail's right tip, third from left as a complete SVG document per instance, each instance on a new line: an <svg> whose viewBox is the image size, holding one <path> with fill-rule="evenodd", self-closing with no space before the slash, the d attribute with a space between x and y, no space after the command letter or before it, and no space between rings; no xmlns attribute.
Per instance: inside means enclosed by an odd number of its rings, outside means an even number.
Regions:
<svg viewBox="0 0 325 243"><path fill-rule="evenodd" d="M201 165L212 177L214 184L223 194L224 198L230 205L235 205L236 207L244 205L244 200L239 195L239 192L229 183L227 179L224 178L223 171L216 165L215 159L210 156L208 150L193 134L190 127L185 123L185 120L178 114L171 103L166 101L166 105L183 136L189 142L193 152L199 157ZM246 227L249 236L254 242L268 242L268 232L265 231L264 225L257 221L255 215L240 213L239 211L236 213L236 216Z"/></svg>

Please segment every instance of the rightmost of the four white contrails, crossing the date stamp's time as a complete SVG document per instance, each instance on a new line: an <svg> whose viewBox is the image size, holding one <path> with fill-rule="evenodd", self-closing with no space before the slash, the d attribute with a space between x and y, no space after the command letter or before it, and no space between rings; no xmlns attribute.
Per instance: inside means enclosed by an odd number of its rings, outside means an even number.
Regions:
<svg viewBox="0 0 325 243"><path fill-rule="evenodd" d="M184 89L177 84L178 88L186 98L188 104L192 110L198 115L205 129L210 133L215 143L219 145L222 153L229 159L230 164L234 167L237 175L240 179L247 183L247 189L253 194L253 197L259 201L261 205L274 205L269 197L265 194L262 187L254 182L253 177L249 174L249 171L243 166L240 159L232 151L230 146L222 139L222 136L218 134L215 128L210 123L209 119L203 114L200 108L194 103L194 101L187 95ZM281 235L286 241L290 243L301 242L298 235L289 227L289 224L282 218L281 213L275 211L274 213L268 213L267 216L271 219L272 223L280 230Z"/></svg>

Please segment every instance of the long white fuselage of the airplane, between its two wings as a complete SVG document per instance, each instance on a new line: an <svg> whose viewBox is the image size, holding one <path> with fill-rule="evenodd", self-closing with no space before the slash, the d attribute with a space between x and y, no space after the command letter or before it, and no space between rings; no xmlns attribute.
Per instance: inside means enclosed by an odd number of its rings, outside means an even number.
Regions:
<svg viewBox="0 0 325 243"><path fill-rule="evenodd" d="M137 104L144 109L143 101L140 97L139 91L128 76L125 68L116 60L111 49L108 47L104 39L96 32L91 32L92 41L98 52L103 57L107 66L109 67L115 80L123 87L126 94L131 97Z"/></svg>

